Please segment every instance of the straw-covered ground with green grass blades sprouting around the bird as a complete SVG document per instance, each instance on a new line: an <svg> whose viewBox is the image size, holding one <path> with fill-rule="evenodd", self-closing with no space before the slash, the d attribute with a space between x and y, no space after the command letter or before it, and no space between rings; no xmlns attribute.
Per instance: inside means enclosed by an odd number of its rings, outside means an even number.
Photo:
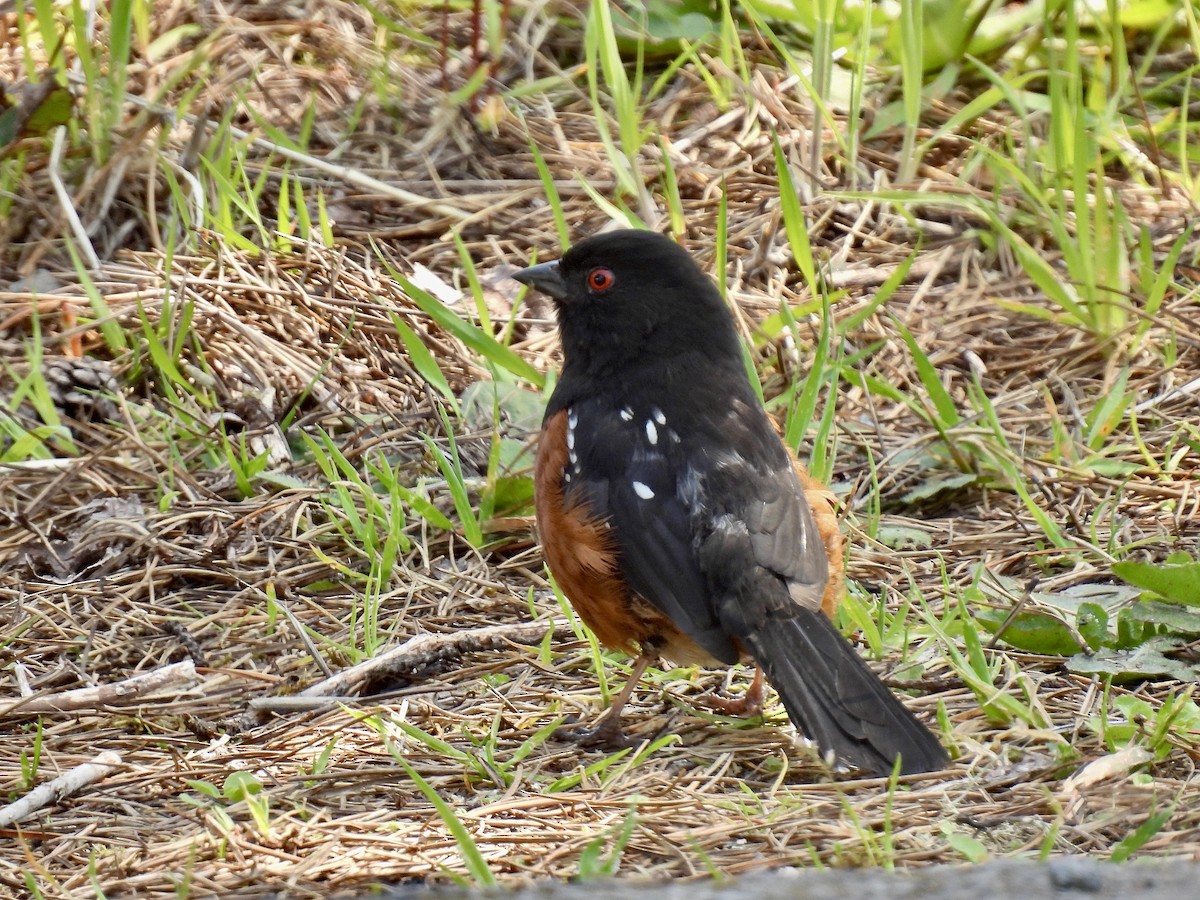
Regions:
<svg viewBox="0 0 1200 900"><path fill-rule="evenodd" d="M740 52L638 68L607 5L515 2L476 56L468 6L307 0L134 4L125 56L106 12L52 59L66 19L0 12L0 893L1196 857L1200 601L1138 589L1200 553L1190 20L1063 25L1079 83L1020 26L910 130L902 53L822 95L803 23L697 6ZM1062 106L1121 54L1139 96ZM554 736L629 660L542 565L557 338L508 276L635 220L726 289L838 494L839 624L948 772L707 712L743 670L652 670L636 751Z"/></svg>

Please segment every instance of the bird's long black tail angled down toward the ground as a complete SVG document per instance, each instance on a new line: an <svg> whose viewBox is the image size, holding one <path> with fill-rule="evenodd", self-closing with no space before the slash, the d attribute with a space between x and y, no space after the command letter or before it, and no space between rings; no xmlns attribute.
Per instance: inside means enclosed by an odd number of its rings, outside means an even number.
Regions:
<svg viewBox="0 0 1200 900"><path fill-rule="evenodd" d="M821 752L883 775L937 772L946 750L822 613L798 608L744 638L787 715Z"/></svg>

